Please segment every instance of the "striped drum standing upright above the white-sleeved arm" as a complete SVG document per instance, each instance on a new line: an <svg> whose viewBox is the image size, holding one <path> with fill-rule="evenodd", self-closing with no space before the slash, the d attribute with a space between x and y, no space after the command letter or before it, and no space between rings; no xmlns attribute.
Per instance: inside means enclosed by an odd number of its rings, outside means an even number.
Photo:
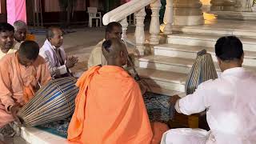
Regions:
<svg viewBox="0 0 256 144"><path fill-rule="evenodd" d="M200 83L215 78L218 78L218 75L213 58L206 50L199 51L186 80L186 94L193 94Z"/></svg>

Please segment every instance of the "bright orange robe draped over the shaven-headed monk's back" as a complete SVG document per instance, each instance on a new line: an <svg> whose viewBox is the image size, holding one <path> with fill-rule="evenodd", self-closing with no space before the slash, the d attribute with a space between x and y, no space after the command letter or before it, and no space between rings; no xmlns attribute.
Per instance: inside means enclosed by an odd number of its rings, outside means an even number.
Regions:
<svg viewBox="0 0 256 144"><path fill-rule="evenodd" d="M149 144L150 121L134 78L118 66L93 66L80 88L68 140L83 144Z"/></svg>

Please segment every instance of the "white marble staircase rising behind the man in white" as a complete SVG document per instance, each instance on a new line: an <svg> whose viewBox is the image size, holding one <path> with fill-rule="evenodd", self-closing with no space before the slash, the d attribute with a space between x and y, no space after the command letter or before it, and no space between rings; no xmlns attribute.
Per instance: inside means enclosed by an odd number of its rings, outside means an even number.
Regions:
<svg viewBox="0 0 256 144"><path fill-rule="evenodd" d="M212 55L219 74L221 71L214 54L214 44L223 35L236 34L241 38L245 50L244 67L256 72L256 36L253 31L225 26L184 26L174 30L177 33L168 35L166 44L154 46L154 54L135 60L138 74L154 93L183 96L187 74L197 52L203 49Z"/></svg>

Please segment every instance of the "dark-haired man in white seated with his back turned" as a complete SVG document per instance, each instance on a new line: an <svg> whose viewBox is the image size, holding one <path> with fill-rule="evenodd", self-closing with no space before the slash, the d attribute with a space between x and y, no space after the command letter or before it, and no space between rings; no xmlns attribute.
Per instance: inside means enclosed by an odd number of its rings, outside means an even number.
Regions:
<svg viewBox="0 0 256 144"><path fill-rule="evenodd" d="M206 110L210 131L169 130L162 144L256 143L256 77L242 68L242 42L234 36L219 38L215 54L222 70L220 77L202 82L194 94L170 99L178 113L190 115Z"/></svg>

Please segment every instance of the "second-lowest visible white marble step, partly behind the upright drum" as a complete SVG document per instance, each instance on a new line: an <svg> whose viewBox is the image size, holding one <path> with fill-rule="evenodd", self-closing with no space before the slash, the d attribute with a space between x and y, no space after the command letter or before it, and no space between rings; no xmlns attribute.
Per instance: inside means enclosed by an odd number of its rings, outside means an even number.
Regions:
<svg viewBox="0 0 256 144"><path fill-rule="evenodd" d="M188 74L194 64L195 59L191 58L178 58L178 57L166 57L161 55L150 55L143 58L138 58L135 61L136 66L141 68L165 70L170 72ZM218 73L221 72L218 63L214 62ZM244 66L246 70L250 70L256 73L256 67Z"/></svg>

